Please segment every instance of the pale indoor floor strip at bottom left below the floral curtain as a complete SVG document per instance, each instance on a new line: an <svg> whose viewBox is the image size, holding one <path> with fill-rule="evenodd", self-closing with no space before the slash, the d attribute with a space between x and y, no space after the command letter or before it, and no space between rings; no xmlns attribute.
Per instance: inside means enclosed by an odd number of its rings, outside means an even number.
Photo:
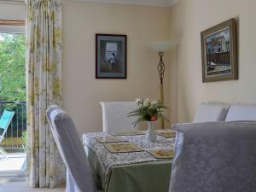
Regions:
<svg viewBox="0 0 256 192"><path fill-rule="evenodd" d="M0 192L65 192L65 186L55 189L32 189L26 187L26 182L0 183Z"/></svg>

